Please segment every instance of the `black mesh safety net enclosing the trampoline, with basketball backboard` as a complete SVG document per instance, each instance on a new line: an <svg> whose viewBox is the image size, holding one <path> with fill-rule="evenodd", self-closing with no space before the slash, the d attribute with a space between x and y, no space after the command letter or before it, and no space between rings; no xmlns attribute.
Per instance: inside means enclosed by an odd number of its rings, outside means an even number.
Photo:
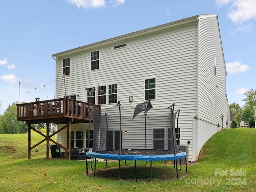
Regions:
<svg viewBox="0 0 256 192"><path fill-rule="evenodd" d="M121 105L91 110L92 152L123 149L160 149L180 153L176 142L174 104L153 108L150 101L136 108ZM89 132L90 133L90 132Z"/></svg>

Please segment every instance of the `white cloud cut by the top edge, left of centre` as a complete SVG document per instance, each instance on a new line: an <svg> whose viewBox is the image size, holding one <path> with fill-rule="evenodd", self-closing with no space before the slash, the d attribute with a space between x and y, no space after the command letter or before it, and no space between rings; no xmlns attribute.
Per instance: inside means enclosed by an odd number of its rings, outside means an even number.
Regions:
<svg viewBox="0 0 256 192"><path fill-rule="evenodd" d="M85 9L101 8L105 6L105 0L68 0L70 3L76 5L78 8Z"/></svg>

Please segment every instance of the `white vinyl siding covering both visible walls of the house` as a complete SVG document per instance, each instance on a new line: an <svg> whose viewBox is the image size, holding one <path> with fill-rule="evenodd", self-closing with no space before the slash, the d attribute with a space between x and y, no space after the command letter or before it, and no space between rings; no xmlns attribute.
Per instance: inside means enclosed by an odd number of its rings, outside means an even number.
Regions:
<svg viewBox="0 0 256 192"><path fill-rule="evenodd" d="M145 100L144 80L156 78L157 98L152 100L152 105L161 108L175 103L175 111L180 109L179 127L182 136L180 144L188 145L190 141L189 160L196 160L194 145L202 140L200 137L204 138L204 134L196 137L195 129L201 124L204 126L204 122L215 126L215 116L219 118L220 111L223 111L224 116L226 114L226 98L225 100L222 98L223 95L226 96L226 69L217 17L199 17L199 34L196 18L187 20L184 24L182 22L183 20L180 24L152 29L153 32L146 30L141 34L138 32L124 36L125 42L129 45L125 48L113 49L114 46L124 43L123 38L117 37L112 41L106 40L84 46L76 52L70 50L60 53L56 62L56 98L64 95L63 58L72 59L72 74L66 79L67 94L79 94L81 101L87 101L84 88L95 87L95 104L97 104L98 86L105 85L106 101L108 101L108 85L118 82L118 101L122 105L135 107ZM91 70L90 53L94 50L100 50L98 70ZM214 56L216 56L216 76L213 69ZM210 78L210 82L207 78ZM216 85L219 86L221 95L217 94ZM128 96L133 96L133 102L129 102ZM113 105L115 103L107 102L102 108ZM224 119L226 122L226 117ZM220 120L218 121L220 123ZM152 131L147 131L148 147L153 145ZM133 144L134 148L144 147L144 140L134 143L134 139L144 138L144 134L144 130L132 130L127 136L129 137L127 143L123 143L123 146ZM208 138L206 134L205 139Z"/></svg>

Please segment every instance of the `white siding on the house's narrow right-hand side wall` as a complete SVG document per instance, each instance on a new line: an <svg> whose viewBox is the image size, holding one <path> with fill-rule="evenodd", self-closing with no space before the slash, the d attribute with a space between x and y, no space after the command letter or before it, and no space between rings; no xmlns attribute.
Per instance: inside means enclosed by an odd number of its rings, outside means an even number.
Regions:
<svg viewBox="0 0 256 192"><path fill-rule="evenodd" d="M226 68L217 16L199 18L198 52L198 132L195 152L216 131L220 118L227 120ZM216 73L215 68L216 67Z"/></svg>

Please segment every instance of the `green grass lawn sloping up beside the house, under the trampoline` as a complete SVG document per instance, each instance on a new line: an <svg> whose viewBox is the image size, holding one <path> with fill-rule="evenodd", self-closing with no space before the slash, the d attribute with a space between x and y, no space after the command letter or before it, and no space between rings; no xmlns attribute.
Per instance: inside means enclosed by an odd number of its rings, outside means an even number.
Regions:
<svg viewBox="0 0 256 192"><path fill-rule="evenodd" d="M36 142L42 140L33 134ZM133 167L122 163L118 179L118 162L97 163L96 177L85 174L85 161L46 159L46 144L38 146L27 160L26 134L0 134L0 191L254 191L256 185L256 130L228 129L216 133L202 149L200 160L188 165L188 176L177 180L176 171L165 168L164 162L138 167L138 182ZM42 154L41 154L42 151ZM144 164L144 162L138 162ZM133 164L133 162L128 162ZM171 164L170 168L173 168ZM184 174L182 169L181 174Z"/></svg>

